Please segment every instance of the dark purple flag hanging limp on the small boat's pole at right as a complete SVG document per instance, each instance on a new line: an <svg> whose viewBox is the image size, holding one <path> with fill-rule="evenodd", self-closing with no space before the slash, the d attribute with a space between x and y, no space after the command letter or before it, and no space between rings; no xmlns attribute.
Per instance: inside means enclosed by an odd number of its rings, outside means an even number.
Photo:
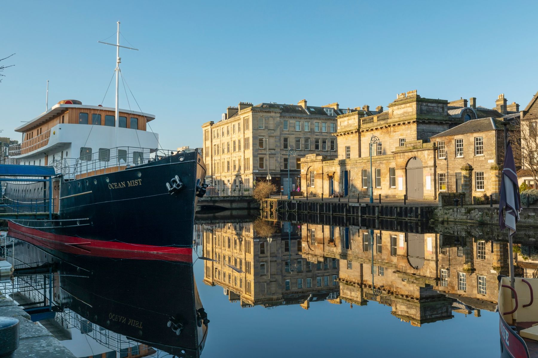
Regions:
<svg viewBox="0 0 538 358"><path fill-rule="evenodd" d="M506 146L500 192L499 226L501 230L508 228L509 235L512 235L515 232L515 224L519 220L521 199L519 196L518 175L515 172L514 154L510 142ZM504 216L502 215L503 209L505 211Z"/></svg>

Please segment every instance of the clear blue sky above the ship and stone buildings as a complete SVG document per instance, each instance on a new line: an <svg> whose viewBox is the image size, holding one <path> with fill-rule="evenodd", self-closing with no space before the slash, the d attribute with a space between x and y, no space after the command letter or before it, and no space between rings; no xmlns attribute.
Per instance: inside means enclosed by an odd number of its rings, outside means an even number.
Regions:
<svg viewBox="0 0 538 358"><path fill-rule="evenodd" d="M121 50L122 72L157 116L163 148L199 147L200 125L239 101L376 107L416 89L486 107L505 93L524 108L538 91L537 10L519 1L5 2L0 58L16 55L4 63L15 67L0 83L0 129L20 139L13 128L44 111L47 79L49 107L100 104L115 48L97 40L118 19L140 49ZM114 82L103 105L114 106Z"/></svg>

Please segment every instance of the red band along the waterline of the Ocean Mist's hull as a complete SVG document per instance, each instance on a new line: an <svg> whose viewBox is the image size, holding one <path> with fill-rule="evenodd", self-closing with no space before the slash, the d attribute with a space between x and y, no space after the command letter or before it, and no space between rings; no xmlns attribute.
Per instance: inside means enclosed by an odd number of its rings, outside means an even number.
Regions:
<svg viewBox="0 0 538 358"><path fill-rule="evenodd" d="M76 236L56 235L8 222L8 235L48 249L75 255L90 255L114 259L142 259L193 262L192 247L138 245L116 241L91 240Z"/></svg>

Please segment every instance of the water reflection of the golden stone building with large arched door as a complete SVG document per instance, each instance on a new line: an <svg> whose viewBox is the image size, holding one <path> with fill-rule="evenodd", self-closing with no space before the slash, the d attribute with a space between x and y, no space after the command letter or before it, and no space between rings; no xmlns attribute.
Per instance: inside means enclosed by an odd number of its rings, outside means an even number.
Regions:
<svg viewBox="0 0 538 358"><path fill-rule="evenodd" d="M305 259L339 260L339 298L351 306L377 301L415 326L451 318L452 310L495 309L506 243L353 226L301 229Z"/></svg>

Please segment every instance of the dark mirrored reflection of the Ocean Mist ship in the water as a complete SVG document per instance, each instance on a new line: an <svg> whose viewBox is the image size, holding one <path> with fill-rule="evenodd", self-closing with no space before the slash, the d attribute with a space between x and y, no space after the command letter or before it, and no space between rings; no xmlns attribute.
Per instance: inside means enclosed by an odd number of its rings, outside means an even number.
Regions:
<svg viewBox="0 0 538 358"><path fill-rule="evenodd" d="M16 277L11 296L25 308L53 297L60 311L43 323L79 357L143 357L162 350L199 357L207 335L192 264L165 260L87 257L43 251L16 240L17 268L52 264L51 295L43 276ZM50 284L49 284L50 287ZM25 289L26 288L26 289ZM4 288L3 288L4 290ZM34 304L32 304L32 302Z"/></svg>

